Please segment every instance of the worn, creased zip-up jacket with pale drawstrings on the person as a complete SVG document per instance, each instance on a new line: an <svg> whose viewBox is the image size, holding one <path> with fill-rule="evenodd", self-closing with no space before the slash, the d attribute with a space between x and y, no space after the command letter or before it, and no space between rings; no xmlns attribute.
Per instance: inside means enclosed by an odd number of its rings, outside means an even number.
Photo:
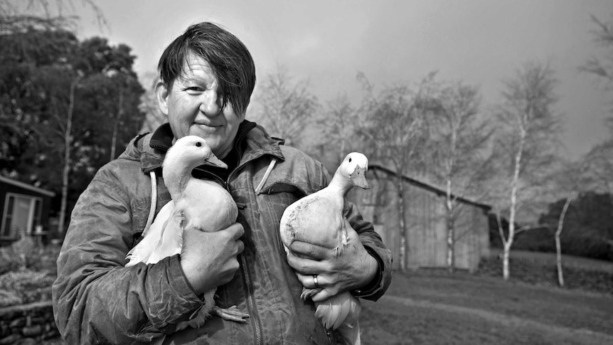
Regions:
<svg viewBox="0 0 613 345"><path fill-rule="evenodd" d="M164 125L163 125L164 126ZM160 129L159 129L160 130ZM169 126L164 129L169 133ZM157 131L156 131L157 132ZM171 135L171 134L170 134ZM284 209L327 185L321 163L262 127L240 125L238 167L223 181L239 206L245 228L240 269L218 287L220 307L236 305L247 324L212 317L200 329L175 332L203 302L188 285L180 255L156 264L124 267L147 221L170 200L161 177L164 151L152 134L132 139L118 159L97 172L73 210L53 284L55 322L68 344L326 344L334 341L314 317L314 304L300 299L302 285L287 265L279 238ZM151 147L153 146L153 147ZM275 161L276 164L271 164ZM270 169L274 165L274 169ZM206 175L206 171L200 171ZM154 179L149 176L153 173ZM209 176L210 177L210 176ZM157 182L155 180L158 180ZM151 185L153 182L153 186ZM257 191L256 191L257 189ZM153 191L153 193L152 193ZM151 196L156 200L152 203ZM378 277L358 297L376 300L391 280L391 254L353 204L346 216L368 252Z"/></svg>

